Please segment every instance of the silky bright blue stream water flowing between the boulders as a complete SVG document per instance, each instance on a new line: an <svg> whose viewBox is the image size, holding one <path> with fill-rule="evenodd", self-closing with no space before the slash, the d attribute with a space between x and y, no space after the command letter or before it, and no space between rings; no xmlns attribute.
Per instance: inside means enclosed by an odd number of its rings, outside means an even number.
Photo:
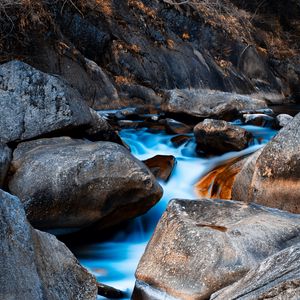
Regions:
<svg viewBox="0 0 300 300"><path fill-rule="evenodd" d="M164 212L169 200L173 198L195 199L195 183L208 171L222 162L252 153L266 144L275 131L256 127L242 126L255 136L254 143L240 152L230 152L212 158L196 155L196 144L192 139L175 148L171 138L175 135L151 133L147 129L126 129L120 132L122 139L130 146L131 152L140 160L155 155L173 155L177 164L167 183L161 182L163 198L147 214L132 221L130 229L119 232L112 240L85 245L72 249L80 262L87 267L98 281L130 294L134 287L134 272L154 228Z"/></svg>

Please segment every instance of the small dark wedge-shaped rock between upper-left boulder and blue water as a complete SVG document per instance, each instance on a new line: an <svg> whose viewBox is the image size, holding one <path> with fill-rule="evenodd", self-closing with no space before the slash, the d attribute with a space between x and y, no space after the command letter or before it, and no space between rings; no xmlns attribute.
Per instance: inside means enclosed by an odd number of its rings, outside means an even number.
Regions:
<svg viewBox="0 0 300 300"><path fill-rule="evenodd" d="M92 120L90 128L84 131L83 136L91 141L110 141L120 145L123 142L118 133L110 126L105 118L93 109L90 109Z"/></svg>

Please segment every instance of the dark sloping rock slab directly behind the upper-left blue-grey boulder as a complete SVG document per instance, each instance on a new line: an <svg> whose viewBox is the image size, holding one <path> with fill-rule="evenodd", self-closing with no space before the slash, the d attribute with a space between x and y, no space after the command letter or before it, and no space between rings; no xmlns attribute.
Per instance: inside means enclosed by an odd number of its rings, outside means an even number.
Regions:
<svg viewBox="0 0 300 300"><path fill-rule="evenodd" d="M44 41L43 41L44 42ZM53 45L40 43L33 64L49 74L57 74L77 89L90 107L104 109L118 107L116 88L94 61L85 58L77 49L62 42Z"/></svg>

